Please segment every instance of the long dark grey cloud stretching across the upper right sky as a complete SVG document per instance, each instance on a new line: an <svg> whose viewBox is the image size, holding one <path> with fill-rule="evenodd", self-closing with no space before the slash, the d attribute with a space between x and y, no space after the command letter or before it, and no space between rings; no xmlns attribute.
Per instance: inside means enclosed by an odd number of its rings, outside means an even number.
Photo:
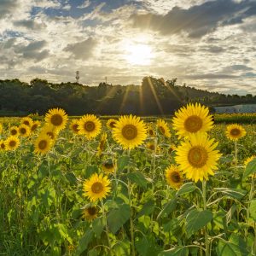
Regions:
<svg viewBox="0 0 256 256"><path fill-rule="evenodd" d="M166 15L131 15L132 26L151 29L162 34L187 32L190 38L201 38L218 26L242 23L243 19L256 15L256 2L245 0L217 0L189 9L174 7Z"/></svg>

